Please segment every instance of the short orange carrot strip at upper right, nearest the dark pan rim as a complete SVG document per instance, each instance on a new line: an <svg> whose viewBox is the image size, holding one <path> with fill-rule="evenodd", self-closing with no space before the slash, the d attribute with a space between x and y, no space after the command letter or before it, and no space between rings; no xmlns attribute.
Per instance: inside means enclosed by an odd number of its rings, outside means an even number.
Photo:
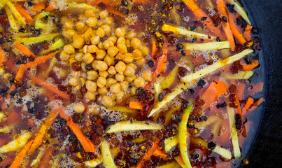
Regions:
<svg viewBox="0 0 282 168"><path fill-rule="evenodd" d="M232 34L237 38L239 43L244 44L246 43L246 39L244 38L244 35L239 31L236 23L235 23L235 15L233 13L230 13L226 8L225 11L227 11L227 18L229 21L230 29L232 31Z"/></svg>

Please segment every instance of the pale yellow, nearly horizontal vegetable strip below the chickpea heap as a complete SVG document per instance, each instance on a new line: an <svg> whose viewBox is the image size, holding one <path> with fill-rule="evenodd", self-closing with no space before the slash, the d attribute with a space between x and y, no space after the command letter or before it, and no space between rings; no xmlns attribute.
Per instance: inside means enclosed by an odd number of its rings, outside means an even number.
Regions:
<svg viewBox="0 0 282 168"><path fill-rule="evenodd" d="M155 123L148 123L143 121L133 121L129 120L120 121L108 127L106 133L113 132L123 132L123 131L136 131L136 130L161 130L162 126Z"/></svg>

